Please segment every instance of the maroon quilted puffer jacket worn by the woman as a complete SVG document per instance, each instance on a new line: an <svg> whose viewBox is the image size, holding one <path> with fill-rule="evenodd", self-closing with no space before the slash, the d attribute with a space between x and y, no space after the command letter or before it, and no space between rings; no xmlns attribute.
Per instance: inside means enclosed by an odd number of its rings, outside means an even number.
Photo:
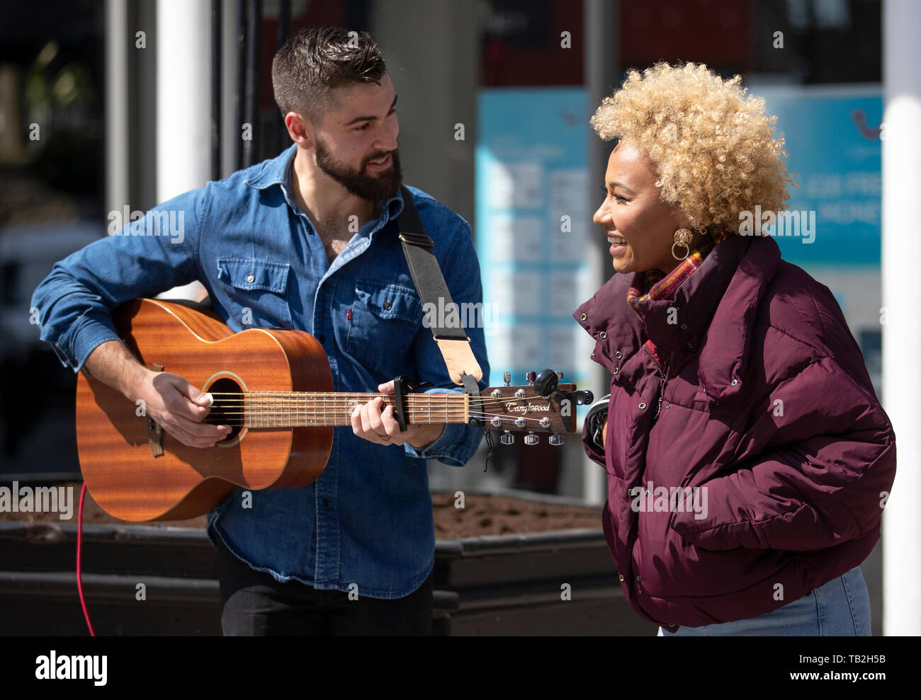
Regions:
<svg viewBox="0 0 921 700"><path fill-rule="evenodd" d="M730 622L859 565L895 435L832 293L740 235L645 323L626 301L640 279L615 274L574 315L612 373L606 449L583 442L608 472L604 533L634 610L672 632Z"/></svg>

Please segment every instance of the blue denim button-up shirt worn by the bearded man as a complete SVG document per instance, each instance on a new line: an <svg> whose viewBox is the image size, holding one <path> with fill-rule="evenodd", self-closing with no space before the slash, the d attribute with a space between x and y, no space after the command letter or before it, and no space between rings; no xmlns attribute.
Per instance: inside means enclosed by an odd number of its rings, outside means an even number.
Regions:
<svg viewBox="0 0 921 700"><path fill-rule="evenodd" d="M399 374L432 382L430 393L461 391L422 325L423 305L397 237L400 193L382 202L379 218L330 264L289 191L296 151L292 145L181 194L121 230L112 225L116 235L55 263L32 297L41 339L77 372L100 343L119 339L110 316L116 305L198 280L235 332L297 328L318 339L334 391L376 392ZM411 191L454 302L482 303L469 224L425 192ZM484 330L467 333L483 369L482 390L489 376ZM434 565L425 459L462 466L481 431L449 424L420 451L408 443L367 442L351 427L332 430L330 460L313 484L254 490L246 501L238 489L208 514L208 534L275 580L340 591L357 584L359 595L373 598L407 595Z"/></svg>

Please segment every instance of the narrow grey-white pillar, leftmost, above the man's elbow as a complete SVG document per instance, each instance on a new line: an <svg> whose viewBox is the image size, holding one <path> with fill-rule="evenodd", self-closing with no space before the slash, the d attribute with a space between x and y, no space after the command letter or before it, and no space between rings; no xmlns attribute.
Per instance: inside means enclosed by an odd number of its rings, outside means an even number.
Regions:
<svg viewBox="0 0 921 700"><path fill-rule="evenodd" d="M106 2L106 211L121 212L128 201L128 6Z"/></svg>

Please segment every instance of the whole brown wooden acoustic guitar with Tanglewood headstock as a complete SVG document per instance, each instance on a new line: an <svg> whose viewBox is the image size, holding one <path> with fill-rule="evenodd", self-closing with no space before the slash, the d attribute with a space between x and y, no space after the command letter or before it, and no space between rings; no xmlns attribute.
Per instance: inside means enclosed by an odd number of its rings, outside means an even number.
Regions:
<svg viewBox="0 0 921 700"><path fill-rule="evenodd" d="M300 488L329 460L332 427L351 425L356 403L391 395L332 391L321 344L299 330L233 332L212 311L191 303L135 299L112 315L120 337L146 367L178 374L212 395L206 421L229 425L211 448L188 447L107 384L80 373L76 435L80 467L99 506L123 521L182 520L201 515L236 488ZM469 423L538 432L550 442L576 426L575 406L590 392L560 384L559 373L529 373L529 384L489 387L480 396L409 393L402 410L413 424ZM399 449L402 446L381 446Z"/></svg>

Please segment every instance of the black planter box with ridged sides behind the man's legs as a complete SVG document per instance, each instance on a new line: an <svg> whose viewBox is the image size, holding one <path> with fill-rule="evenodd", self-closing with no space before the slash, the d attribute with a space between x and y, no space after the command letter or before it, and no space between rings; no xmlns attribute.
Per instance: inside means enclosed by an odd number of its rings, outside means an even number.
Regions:
<svg viewBox="0 0 921 700"><path fill-rule="evenodd" d="M86 635L75 566L75 523L0 522L0 634ZM85 524L83 569L100 635L221 634L203 530ZM600 529L437 540L433 618L435 635L657 632L624 600Z"/></svg>

